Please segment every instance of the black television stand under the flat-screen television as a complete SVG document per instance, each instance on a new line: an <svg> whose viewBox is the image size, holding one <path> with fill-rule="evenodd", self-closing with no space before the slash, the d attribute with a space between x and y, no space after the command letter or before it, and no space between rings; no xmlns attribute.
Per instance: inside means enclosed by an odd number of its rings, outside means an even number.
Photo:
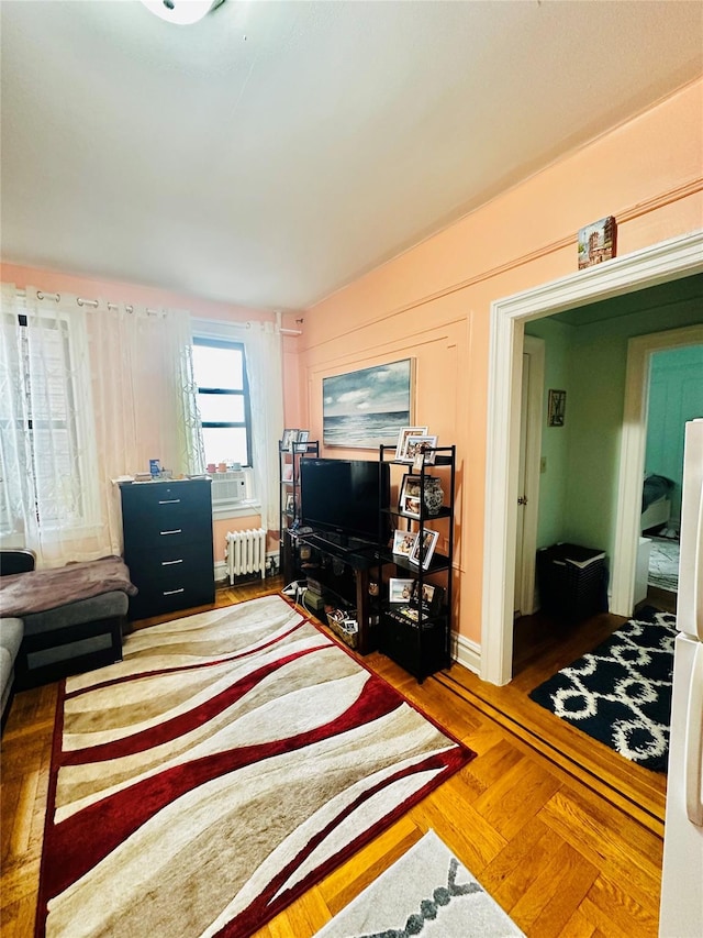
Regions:
<svg viewBox="0 0 703 938"><path fill-rule="evenodd" d="M290 532L286 537L291 537ZM333 536L334 537L334 536ZM320 583L328 605L356 609L359 626L356 645L360 654L375 651L378 644L377 599L369 594L369 584L378 577L378 545L344 538L346 547L331 540L326 532L313 531L304 534L293 534L291 550L300 558L301 547L309 548L311 556L301 566L301 573L310 570ZM300 563L299 563L300 565ZM376 577L372 573L376 572ZM326 616L317 616L324 625L328 625Z"/></svg>

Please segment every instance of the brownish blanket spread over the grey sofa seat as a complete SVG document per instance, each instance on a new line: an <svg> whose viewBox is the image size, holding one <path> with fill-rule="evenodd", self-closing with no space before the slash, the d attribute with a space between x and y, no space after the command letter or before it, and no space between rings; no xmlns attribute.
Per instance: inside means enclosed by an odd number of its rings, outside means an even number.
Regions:
<svg viewBox="0 0 703 938"><path fill-rule="evenodd" d="M69 563L56 570L14 573L0 576L0 613L3 616L29 616L115 589L127 596L137 592L120 556Z"/></svg>

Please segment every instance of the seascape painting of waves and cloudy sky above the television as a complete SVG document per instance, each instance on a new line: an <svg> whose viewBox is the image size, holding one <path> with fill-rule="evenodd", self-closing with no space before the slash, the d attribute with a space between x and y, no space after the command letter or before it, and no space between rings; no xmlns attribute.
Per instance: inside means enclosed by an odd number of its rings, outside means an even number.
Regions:
<svg viewBox="0 0 703 938"><path fill-rule="evenodd" d="M373 450L412 423L413 360L322 379L325 446Z"/></svg>

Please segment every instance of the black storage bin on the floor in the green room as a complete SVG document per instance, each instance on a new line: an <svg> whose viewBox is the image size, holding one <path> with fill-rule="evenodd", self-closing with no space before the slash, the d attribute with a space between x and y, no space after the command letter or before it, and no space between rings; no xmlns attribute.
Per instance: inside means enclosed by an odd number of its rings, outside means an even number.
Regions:
<svg viewBox="0 0 703 938"><path fill-rule="evenodd" d="M537 551L543 613L578 621L607 613L607 566L598 548L554 544Z"/></svg>

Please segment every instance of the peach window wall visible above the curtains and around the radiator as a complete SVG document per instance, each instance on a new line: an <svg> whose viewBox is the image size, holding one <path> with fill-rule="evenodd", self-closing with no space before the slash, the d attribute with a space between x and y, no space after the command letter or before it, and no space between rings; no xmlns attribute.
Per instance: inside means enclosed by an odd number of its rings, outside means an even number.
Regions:
<svg viewBox="0 0 703 938"><path fill-rule="evenodd" d="M44 271L34 267L23 267L2 262L0 265L2 283L14 284L24 289L27 284L46 293L67 293L86 299L102 297L110 302L137 304L150 307L187 309L197 319L226 320L230 322L246 322L248 320L271 320L274 314L233 304L215 302L200 297L161 290L155 287L143 287L136 284L99 280L74 274L62 274L56 271ZM215 560L223 560L227 531L244 531L247 528L258 528L260 515L248 515L236 518L225 518L213 521L213 538ZM268 547L274 550L278 545Z"/></svg>

